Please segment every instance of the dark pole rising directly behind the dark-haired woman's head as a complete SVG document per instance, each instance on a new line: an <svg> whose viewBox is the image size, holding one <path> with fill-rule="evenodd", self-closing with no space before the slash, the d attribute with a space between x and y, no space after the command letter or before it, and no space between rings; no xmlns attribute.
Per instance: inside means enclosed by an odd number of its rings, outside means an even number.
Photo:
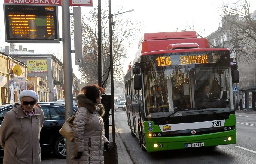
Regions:
<svg viewBox="0 0 256 164"><path fill-rule="evenodd" d="M102 74L102 45L101 45L101 0L98 2L98 85L101 87L101 74ZM102 86L103 87L103 86Z"/></svg>

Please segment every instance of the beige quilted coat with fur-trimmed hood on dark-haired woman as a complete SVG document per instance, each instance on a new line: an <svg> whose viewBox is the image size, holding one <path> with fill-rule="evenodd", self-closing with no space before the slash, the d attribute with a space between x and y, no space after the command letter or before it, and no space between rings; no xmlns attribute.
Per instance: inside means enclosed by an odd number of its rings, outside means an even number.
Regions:
<svg viewBox="0 0 256 164"><path fill-rule="evenodd" d="M102 164L104 163L104 143L108 142L103 135L103 105L100 110L97 110L96 104L87 99L84 94L79 94L77 100L82 107L76 112L73 123L75 142L72 147L72 163L85 164L90 161L91 164ZM87 114L89 117L86 123ZM74 157L77 156L77 152L83 152L83 154L76 160Z"/></svg>

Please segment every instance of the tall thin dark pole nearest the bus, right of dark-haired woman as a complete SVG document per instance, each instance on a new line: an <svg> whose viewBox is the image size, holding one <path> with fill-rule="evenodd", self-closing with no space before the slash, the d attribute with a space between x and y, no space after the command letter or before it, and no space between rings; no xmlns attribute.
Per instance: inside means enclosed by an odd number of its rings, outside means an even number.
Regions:
<svg viewBox="0 0 256 164"><path fill-rule="evenodd" d="M112 45L112 13L111 13L111 0L108 0L109 5L109 50L110 50L110 83L111 83L111 116L112 116L112 136L113 143L116 142L115 138L115 114L114 114L114 72L113 72L113 45Z"/></svg>

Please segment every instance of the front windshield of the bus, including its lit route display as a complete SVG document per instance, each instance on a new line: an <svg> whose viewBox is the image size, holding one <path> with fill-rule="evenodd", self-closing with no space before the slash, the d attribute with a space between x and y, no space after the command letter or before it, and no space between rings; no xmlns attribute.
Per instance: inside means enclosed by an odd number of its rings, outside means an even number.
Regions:
<svg viewBox="0 0 256 164"><path fill-rule="evenodd" d="M234 111L228 51L143 55L141 63L145 118Z"/></svg>

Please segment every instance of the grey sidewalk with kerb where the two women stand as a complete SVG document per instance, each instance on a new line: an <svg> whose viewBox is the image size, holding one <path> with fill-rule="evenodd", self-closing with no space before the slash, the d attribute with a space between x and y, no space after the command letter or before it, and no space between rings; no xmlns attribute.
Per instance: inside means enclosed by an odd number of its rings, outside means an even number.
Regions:
<svg viewBox="0 0 256 164"><path fill-rule="evenodd" d="M112 127L109 127L109 140L112 140ZM117 144L117 153L118 153L118 164L133 164L126 148L123 144L122 139L119 136L117 128L115 127L115 140ZM49 160L41 160L41 164L66 164L66 159L49 159Z"/></svg>

